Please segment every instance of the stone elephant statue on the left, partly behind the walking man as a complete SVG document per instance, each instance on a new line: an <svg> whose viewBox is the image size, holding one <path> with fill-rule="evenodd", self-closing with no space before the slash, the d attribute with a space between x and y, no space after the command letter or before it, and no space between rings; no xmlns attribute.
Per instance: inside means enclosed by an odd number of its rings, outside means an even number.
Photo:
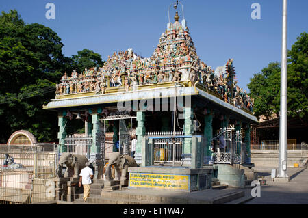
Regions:
<svg viewBox="0 0 308 218"><path fill-rule="evenodd" d="M79 177L79 173L81 169L85 167L85 164L88 162L86 156L78 155L78 154L70 154L70 153L63 153L60 157L59 165L57 168L57 176L62 177L62 167L65 163L66 165L66 172L64 173L64 177L68 177L68 172L73 171L73 177Z"/></svg>

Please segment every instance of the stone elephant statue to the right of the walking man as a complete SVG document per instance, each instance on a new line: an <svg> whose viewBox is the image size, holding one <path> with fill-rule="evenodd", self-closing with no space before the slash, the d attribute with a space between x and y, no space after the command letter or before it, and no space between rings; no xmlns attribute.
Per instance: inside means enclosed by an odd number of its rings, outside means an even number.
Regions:
<svg viewBox="0 0 308 218"><path fill-rule="evenodd" d="M109 163L106 168L105 176L106 180L110 181L111 178L111 167L114 165L115 170L115 178L114 180L119 180L119 172L121 174L120 180L127 180L128 167L138 167L135 159L129 155L120 154L120 152L113 152L110 154Z"/></svg>

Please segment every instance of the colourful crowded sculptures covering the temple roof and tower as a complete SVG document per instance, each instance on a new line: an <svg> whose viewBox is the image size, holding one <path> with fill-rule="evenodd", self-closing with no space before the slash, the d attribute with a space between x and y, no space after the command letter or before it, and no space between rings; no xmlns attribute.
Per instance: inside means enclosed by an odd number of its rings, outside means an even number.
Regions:
<svg viewBox="0 0 308 218"><path fill-rule="evenodd" d="M236 85L233 59L216 68L215 72L202 62L196 54L188 27L185 22L179 23L177 12L175 22L168 23L151 57L141 57L133 49L114 52L98 69L85 69L81 74L74 70L70 77L65 73L55 93L104 94L107 88L113 87L124 87L128 92L140 85L175 81L191 81L192 85L201 85L238 108L253 111L253 99Z"/></svg>

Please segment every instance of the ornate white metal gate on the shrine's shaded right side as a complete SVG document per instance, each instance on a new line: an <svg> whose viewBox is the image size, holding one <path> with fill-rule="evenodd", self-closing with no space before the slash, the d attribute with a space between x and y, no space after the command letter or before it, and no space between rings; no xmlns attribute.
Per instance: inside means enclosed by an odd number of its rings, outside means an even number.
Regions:
<svg viewBox="0 0 308 218"><path fill-rule="evenodd" d="M214 163L242 163L242 130L224 128L211 139Z"/></svg>

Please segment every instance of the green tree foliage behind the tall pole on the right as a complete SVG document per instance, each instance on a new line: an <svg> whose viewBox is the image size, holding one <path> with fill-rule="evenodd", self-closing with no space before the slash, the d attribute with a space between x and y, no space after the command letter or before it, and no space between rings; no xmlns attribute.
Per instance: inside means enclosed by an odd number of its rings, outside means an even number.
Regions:
<svg viewBox="0 0 308 218"><path fill-rule="evenodd" d="M270 63L254 74L248 88L255 99L255 115L270 118L280 111L281 67ZM292 117L307 118L308 110L308 34L302 33L288 51L287 65L287 111Z"/></svg>

